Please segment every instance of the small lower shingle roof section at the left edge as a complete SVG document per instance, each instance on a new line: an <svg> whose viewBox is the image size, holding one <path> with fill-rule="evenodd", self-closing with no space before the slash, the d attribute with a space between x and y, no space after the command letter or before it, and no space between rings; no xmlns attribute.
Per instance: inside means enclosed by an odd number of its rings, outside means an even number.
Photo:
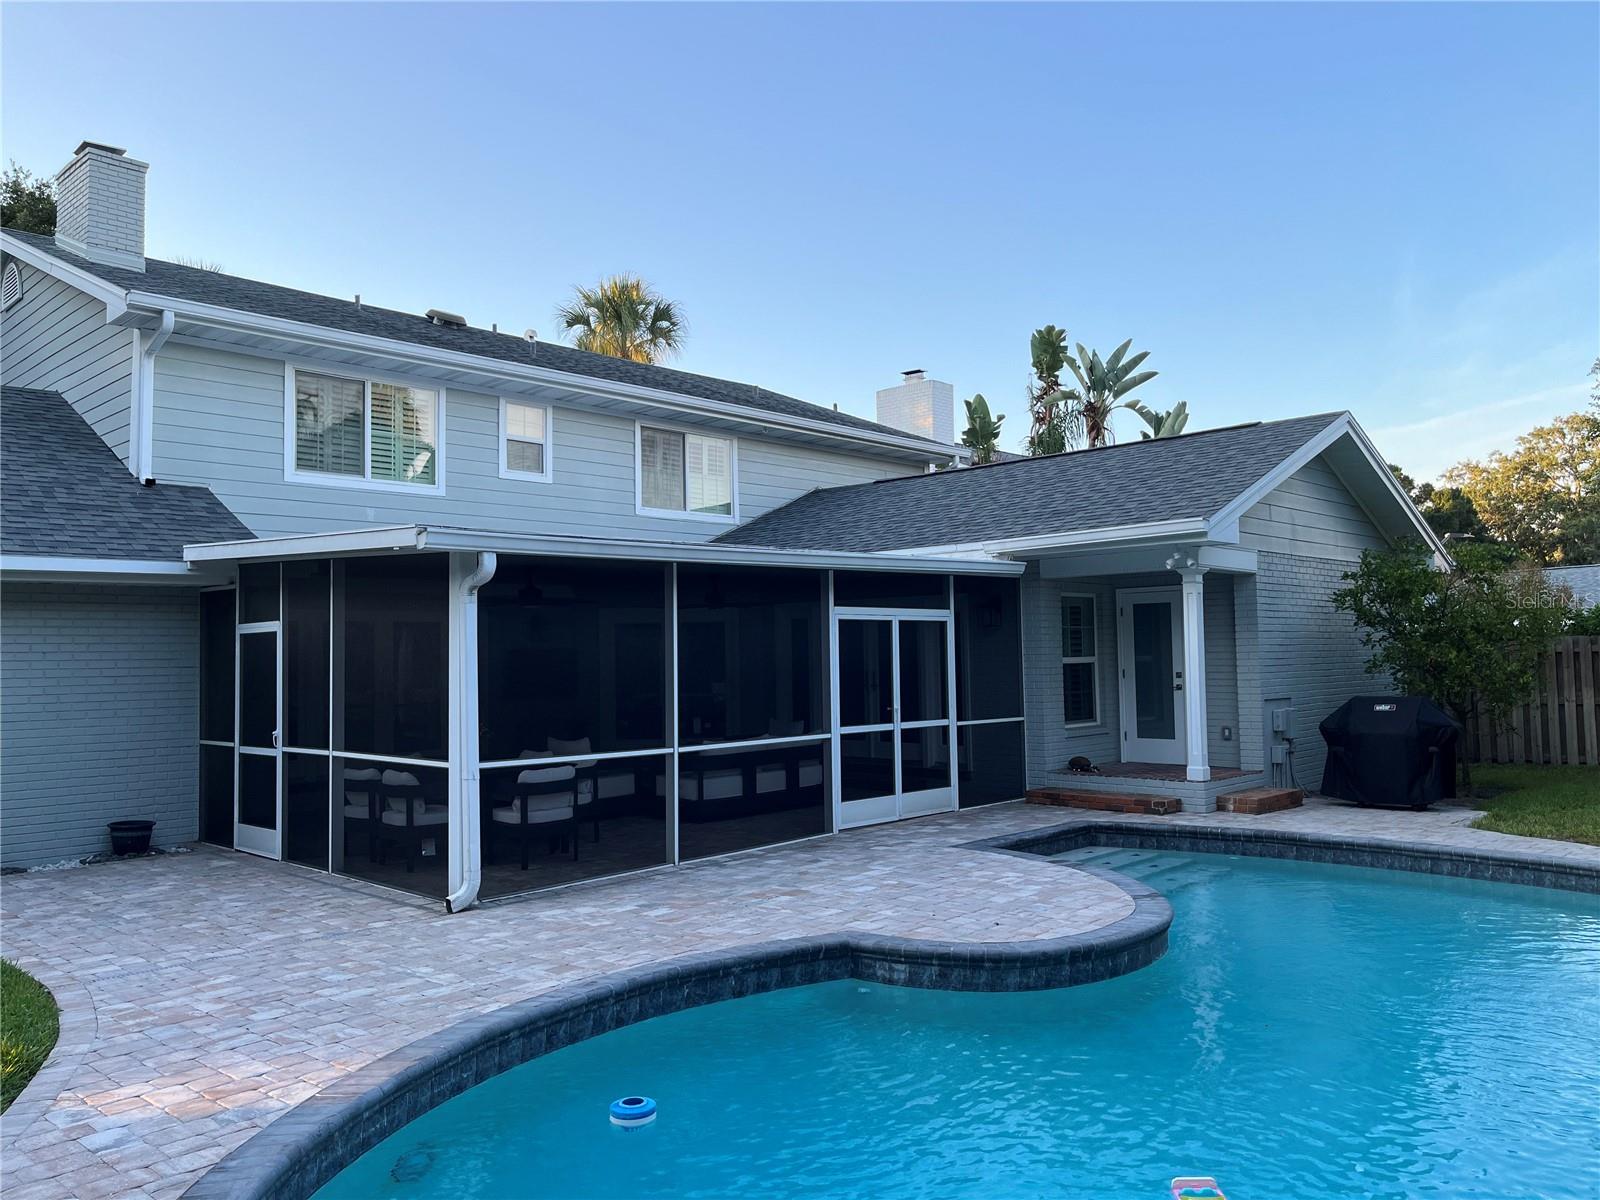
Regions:
<svg viewBox="0 0 1600 1200"><path fill-rule="evenodd" d="M181 562L186 542L251 538L210 488L154 483L56 392L0 389L0 550Z"/></svg>

